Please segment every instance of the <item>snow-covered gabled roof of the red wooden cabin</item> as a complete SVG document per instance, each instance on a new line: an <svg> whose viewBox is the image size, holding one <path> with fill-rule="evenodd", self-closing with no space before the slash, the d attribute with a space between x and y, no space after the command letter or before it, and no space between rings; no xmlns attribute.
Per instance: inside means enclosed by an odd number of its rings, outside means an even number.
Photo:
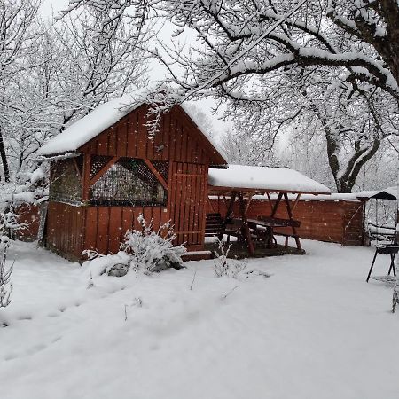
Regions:
<svg viewBox="0 0 399 399"><path fill-rule="evenodd" d="M143 104L145 104L145 95L141 94L140 91L134 94L125 94L120 98L113 98L107 103L100 104L86 116L75 121L58 136L51 138L51 140L38 150L37 155L49 156L74 152ZM207 134L206 129L200 126L200 121L196 121L197 118L195 114L192 113L191 108L184 104L180 106L182 106L184 112L187 113L192 121L199 127L204 136L207 137L210 144L215 147L215 150L221 153L213 138ZM223 158L225 158L224 154L221 154Z"/></svg>

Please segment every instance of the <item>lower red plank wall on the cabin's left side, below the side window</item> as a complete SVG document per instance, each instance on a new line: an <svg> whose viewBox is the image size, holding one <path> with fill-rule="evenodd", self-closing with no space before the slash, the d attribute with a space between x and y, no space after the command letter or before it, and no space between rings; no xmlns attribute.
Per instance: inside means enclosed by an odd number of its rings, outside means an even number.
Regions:
<svg viewBox="0 0 399 399"><path fill-rule="evenodd" d="M46 246L67 258L80 259L85 211L84 207L49 201Z"/></svg>

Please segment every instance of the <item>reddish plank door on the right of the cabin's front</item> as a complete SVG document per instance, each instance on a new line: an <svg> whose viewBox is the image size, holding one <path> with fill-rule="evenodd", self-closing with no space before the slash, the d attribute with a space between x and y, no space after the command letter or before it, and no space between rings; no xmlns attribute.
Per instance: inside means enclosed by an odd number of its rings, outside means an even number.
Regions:
<svg viewBox="0 0 399 399"><path fill-rule="evenodd" d="M175 225L175 244L200 250L205 237L207 166L173 162L171 169L169 215Z"/></svg>

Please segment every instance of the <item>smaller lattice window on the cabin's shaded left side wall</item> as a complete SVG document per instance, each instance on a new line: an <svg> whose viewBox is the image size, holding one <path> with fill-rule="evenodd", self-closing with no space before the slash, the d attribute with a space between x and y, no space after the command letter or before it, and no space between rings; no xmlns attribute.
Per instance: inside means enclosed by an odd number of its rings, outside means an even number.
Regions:
<svg viewBox="0 0 399 399"><path fill-rule="evenodd" d="M82 201L82 179L79 165L82 160L57 160L51 165L49 199L58 202L80 203Z"/></svg>

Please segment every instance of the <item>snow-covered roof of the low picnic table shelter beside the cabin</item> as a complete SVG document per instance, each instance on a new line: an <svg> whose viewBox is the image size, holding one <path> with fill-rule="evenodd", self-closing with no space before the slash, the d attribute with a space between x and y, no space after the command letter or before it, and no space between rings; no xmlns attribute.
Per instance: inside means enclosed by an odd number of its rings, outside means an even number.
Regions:
<svg viewBox="0 0 399 399"><path fill-rule="evenodd" d="M324 184L288 168L229 165L227 169L210 169L209 184L221 188L254 189L258 192L331 193Z"/></svg>

